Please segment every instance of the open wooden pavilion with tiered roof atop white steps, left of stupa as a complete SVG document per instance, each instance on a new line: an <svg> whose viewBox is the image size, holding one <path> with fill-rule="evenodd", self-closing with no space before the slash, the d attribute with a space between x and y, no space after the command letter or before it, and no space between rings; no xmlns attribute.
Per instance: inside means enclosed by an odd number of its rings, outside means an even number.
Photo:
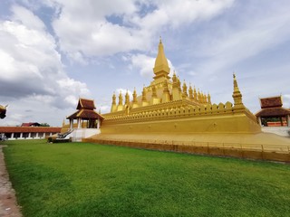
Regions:
<svg viewBox="0 0 290 217"><path fill-rule="evenodd" d="M100 128L102 124L102 115L96 112L94 101L92 99L79 99L77 111L67 117L70 120L70 130L73 130L73 120L77 120L77 128L82 128L86 121L86 128Z"/></svg>

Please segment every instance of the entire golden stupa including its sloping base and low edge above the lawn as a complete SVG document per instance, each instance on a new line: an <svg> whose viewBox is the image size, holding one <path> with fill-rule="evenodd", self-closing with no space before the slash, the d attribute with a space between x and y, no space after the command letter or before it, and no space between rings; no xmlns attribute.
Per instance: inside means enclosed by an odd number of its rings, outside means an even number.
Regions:
<svg viewBox="0 0 290 217"><path fill-rule="evenodd" d="M256 117L244 106L234 74L233 101L212 104L209 94L181 84L160 40L154 77L138 95L112 96L111 112L101 128L84 142L133 146L219 156L289 161L290 140L261 132ZM189 88L188 88L189 87ZM281 152L283 152L281 154Z"/></svg>

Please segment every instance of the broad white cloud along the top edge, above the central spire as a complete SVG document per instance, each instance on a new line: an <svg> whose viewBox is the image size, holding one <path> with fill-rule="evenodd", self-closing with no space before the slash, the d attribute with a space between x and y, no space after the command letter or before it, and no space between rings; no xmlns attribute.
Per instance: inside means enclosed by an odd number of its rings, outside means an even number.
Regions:
<svg viewBox="0 0 290 217"><path fill-rule="evenodd" d="M49 2L46 5L56 8L53 30L61 50L82 62L90 56L148 51L152 38L166 28L212 18L230 7L234 0ZM153 9L147 11L144 6Z"/></svg>

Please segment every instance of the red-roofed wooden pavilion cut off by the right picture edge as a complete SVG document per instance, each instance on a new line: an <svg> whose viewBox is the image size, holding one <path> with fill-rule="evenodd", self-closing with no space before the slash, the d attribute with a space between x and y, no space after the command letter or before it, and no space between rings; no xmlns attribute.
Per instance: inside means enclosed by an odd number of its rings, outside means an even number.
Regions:
<svg viewBox="0 0 290 217"><path fill-rule="evenodd" d="M290 109L283 108L282 96L260 99L256 118L264 127L290 127Z"/></svg>

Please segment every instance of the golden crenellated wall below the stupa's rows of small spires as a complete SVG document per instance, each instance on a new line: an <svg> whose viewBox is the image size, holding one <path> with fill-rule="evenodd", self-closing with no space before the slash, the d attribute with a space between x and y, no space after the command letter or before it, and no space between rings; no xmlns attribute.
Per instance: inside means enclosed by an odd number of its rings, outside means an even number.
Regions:
<svg viewBox="0 0 290 217"><path fill-rule="evenodd" d="M106 116L105 116L106 117ZM159 109L121 115L102 122L102 134L258 133L261 127L245 108L208 105L202 108Z"/></svg>

